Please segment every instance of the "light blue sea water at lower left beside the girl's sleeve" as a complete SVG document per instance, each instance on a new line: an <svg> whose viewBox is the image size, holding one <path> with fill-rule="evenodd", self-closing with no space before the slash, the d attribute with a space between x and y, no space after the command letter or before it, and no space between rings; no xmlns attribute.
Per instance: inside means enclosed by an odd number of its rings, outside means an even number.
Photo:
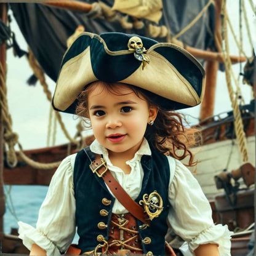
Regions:
<svg viewBox="0 0 256 256"><path fill-rule="evenodd" d="M18 228L18 221L36 227L38 212L47 190L48 186L4 186L6 194L4 233L9 234L11 228ZM73 242L78 242L78 234Z"/></svg>

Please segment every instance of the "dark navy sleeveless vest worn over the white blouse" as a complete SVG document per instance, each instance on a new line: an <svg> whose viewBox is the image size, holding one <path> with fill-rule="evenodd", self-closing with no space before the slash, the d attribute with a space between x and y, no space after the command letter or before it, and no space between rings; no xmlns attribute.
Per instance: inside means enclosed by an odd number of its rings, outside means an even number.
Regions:
<svg viewBox="0 0 256 256"><path fill-rule="evenodd" d="M156 190L163 201L164 209L159 217L151 221L150 227L145 230L138 228L140 238L151 239L150 244L143 244L143 253L153 252L154 255L165 255L164 242L167 232L167 215L169 210L168 187L170 179L169 162L164 154L151 148L151 156L142 156L141 163L144 177L142 189L138 198L139 202L143 194L150 194ZM111 211L114 198L111 196L105 182L97 177L89 168L90 160L84 150L78 152L74 162L74 196L76 198L76 225L78 226L79 243L78 247L82 252L94 250L99 244L97 236L102 234L108 241ZM111 204L106 206L102 199L106 198ZM102 216L100 210L106 210L107 216ZM104 229L98 228L98 223L103 222L108 225ZM137 225L143 223L137 220Z"/></svg>

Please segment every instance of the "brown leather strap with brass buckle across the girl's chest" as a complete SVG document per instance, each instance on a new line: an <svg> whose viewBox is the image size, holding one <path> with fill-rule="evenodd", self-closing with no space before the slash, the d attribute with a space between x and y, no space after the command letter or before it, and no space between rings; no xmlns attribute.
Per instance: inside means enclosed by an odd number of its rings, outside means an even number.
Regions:
<svg viewBox="0 0 256 256"><path fill-rule="evenodd" d="M87 150L84 149L84 151L90 159ZM94 161L90 159L90 169L92 170L92 172L94 172L94 174L97 174L98 177L103 178L104 182L106 183L106 185L108 185L116 199L121 202L122 206L129 210L130 214L134 215L134 217L138 218L138 220L150 226L150 220L148 219L148 215L144 212L144 209L139 206L137 202L135 202L132 198L130 198L129 194L127 194L122 186L116 181L110 170L108 170L108 167L106 166L106 161L101 158L100 154L94 155Z"/></svg>

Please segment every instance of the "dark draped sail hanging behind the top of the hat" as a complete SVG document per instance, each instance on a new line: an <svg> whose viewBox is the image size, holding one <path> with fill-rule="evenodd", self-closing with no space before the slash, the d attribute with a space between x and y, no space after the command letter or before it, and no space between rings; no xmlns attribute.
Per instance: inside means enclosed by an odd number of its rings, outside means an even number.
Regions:
<svg viewBox="0 0 256 256"><path fill-rule="evenodd" d="M84 2L92 3L95 1ZM114 3L113 0L104 0L103 2L110 7ZM153 38L147 30L147 25L150 23L153 26L166 26L171 31L172 36L175 36L191 23L207 2L207 0L163 0L162 17L159 24L142 19L145 26L140 30L135 28L126 30L122 28L120 22L110 22L91 12L86 14L37 3L10 3L10 8L34 56L47 75L56 81L58 68L66 50L66 40L74 33L78 25L83 25L86 31L97 34L117 31ZM121 13L119 15L124 16ZM129 17L129 19L132 18ZM210 5L198 22L178 39L188 46L207 49L214 47L213 34L214 6ZM154 39L159 42L167 41L166 36L163 38L154 37Z"/></svg>

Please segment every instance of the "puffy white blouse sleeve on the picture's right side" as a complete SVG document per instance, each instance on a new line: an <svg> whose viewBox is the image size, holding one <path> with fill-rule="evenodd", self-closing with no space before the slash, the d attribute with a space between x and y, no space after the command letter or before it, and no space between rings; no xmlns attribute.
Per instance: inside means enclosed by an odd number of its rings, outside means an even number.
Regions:
<svg viewBox="0 0 256 256"><path fill-rule="evenodd" d="M222 256L230 256L232 232L225 225L214 225L212 209L196 178L180 161L168 157L170 164L168 219L174 232L193 252L201 244L218 244Z"/></svg>

